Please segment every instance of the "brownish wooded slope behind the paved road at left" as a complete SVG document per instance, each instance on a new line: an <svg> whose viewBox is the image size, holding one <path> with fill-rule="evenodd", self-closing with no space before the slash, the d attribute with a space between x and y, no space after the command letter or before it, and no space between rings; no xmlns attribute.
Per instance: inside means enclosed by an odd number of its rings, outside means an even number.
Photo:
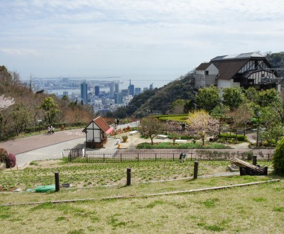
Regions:
<svg viewBox="0 0 284 234"><path fill-rule="evenodd" d="M21 84L16 72L0 66L0 139L32 132L48 125L87 123L94 117L90 106L77 105L67 97L34 93Z"/></svg>

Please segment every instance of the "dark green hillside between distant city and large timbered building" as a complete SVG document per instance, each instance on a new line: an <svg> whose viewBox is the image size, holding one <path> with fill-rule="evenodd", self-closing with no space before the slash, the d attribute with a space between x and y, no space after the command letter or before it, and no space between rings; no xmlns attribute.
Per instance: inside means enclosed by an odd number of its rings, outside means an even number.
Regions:
<svg viewBox="0 0 284 234"><path fill-rule="evenodd" d="M189 72L159 89L134 96L126 112L129 116L141 118L156 111L166 113L176 99L193 99L193 76L194 73Z"/></svg>

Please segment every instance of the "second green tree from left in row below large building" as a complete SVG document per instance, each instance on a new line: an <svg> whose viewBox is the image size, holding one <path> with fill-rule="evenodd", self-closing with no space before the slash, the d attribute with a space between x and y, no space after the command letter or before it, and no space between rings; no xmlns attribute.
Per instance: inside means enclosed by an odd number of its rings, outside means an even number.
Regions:
<svg viewBox="0 0 284 234"><path fill-rule="evenodd" d="M243 89L240 87L229 87L223 89L223 104L232 110L238 108L244 101Z"/></svg>

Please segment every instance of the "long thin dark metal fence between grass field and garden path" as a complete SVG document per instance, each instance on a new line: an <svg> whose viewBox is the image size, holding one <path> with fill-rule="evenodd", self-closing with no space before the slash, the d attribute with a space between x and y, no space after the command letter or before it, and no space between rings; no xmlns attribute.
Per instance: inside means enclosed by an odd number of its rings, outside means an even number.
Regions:
<svg viewBox="0 0 284 234"><path fill-rule="evenodd" d="M76 155L76 152L78 154ZM68 161L80 162L125 162L125 161L175 161L180 160L180 153L185 152L186 160L251 160L253 155L259 161L271 161L274 150L116 150L111 152L89 151L84 155L81 150L65 152ZM64 155L63 155L64 157ZM66 156L65 156L66 157Z"/></svg>

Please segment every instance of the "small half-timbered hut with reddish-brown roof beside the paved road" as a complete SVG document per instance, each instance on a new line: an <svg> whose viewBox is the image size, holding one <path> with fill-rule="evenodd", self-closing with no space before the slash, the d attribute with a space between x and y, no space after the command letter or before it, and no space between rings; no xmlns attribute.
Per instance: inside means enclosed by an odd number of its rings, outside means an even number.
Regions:
<svg viewBox="0 0 284 234"><path fill-rule="evenodd" d="M107 134L111 133L113 130L114 128L111 128L101 116L94 118L91 123L82 130L83 133L86 133L86 147L104 147L104 144L107 143Z"/></svg>

